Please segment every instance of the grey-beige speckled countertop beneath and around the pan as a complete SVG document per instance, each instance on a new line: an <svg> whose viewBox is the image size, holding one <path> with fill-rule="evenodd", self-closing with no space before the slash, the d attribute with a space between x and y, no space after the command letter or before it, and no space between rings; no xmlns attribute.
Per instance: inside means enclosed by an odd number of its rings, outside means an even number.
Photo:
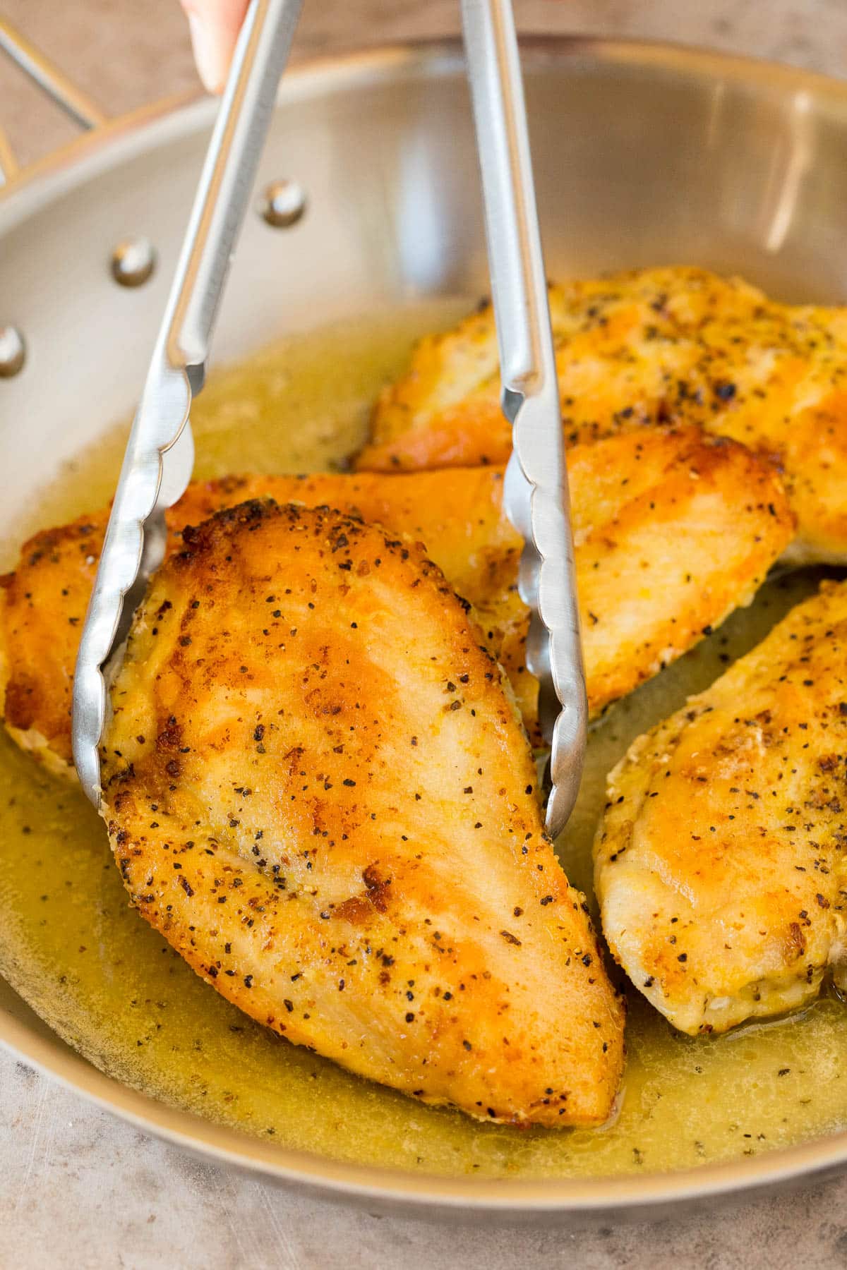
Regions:
<svg viewBox="0 0 847 1270"><path fill-rule="evenodd" d="M457 0L309 0L298 53L443 34ZM177 0L4 0L3 11L112 112L194 86ZM844 0L517 0L528 29L643 36L847 74ZM0 66L0 119L24 161L67 126ZM0 1266L485 1266L575 1270L847 1266L847 1177L593 1233L446 1226L303 1199L182 1154L0 1052Z"/></svg>

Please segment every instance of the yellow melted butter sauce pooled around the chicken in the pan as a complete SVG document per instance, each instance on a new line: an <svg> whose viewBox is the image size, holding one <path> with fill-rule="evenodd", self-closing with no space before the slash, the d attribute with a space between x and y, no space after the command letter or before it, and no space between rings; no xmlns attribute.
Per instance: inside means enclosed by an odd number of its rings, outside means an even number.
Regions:
<svg viewBox="0 0 847 1270"><path fill-rule="evenodd" d="M465 304L298 337L213 376L193 423L197 475L339 465L415 334ZM126 429L44 491L30 526L105 502ZM5 555L14 563L18 542ZM590 892L606 772L630 740L706 687L817 579L770 583L754 606L622 701L594 728L579 804L560 843ZM756 1154L847 1126L847 1008L715 1039L674 1033L630 989L629 1060L616 1119L599 1130L516 1130L427 1109L295 1049L198 979L128 907L105 829L77 789L0 739L0 973L103 1071L166 1102L286 1147L476 1176L659 1171Z"/></svg>

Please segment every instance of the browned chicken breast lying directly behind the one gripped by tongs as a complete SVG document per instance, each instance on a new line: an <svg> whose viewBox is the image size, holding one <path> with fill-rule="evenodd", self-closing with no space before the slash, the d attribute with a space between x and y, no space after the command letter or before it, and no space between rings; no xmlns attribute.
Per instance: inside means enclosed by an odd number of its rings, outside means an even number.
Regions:
<svg viewBox="0 0 847 1270"><path fill-rule="evenodd" d="M695 429L640 429L569 455L577 582L592 714L655 674L747 603L791 537L772 470ZM502 472L239 476L193 484L168 513L179 530L244 498L325 504L423 541L475 608L505 667L533 742L537 683L526 669L528 615L517 593L521 538L503 516ZM107 512L36 535L0 579L0 688L6 728L72 772L71 679Z"/></svg>

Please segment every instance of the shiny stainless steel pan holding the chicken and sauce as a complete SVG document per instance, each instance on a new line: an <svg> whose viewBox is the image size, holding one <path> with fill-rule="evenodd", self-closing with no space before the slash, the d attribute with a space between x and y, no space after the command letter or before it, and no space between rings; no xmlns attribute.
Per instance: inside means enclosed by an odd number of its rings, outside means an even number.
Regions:
<svg viewBox="0 0 847 1270"><path fill-rule="evenodd" d="M554 276L684 262L742 272L786 298L843 300L847 85L660 46L537 39L524 52ZM0 378L3 535L65 458L135 405L213 110L199 102L104 123L0 197L0 325L14 325L27 348L23 368ZM0 163L4 152L0 145ZM295 215L277 207L288 227L248 218L218 361L316 321L485 287L470 104L453 44L291 72L259 185L279 179L300 183L306 213L296 215L295 198ZM118 286L113 251L133 236L154 244L159 264L146 284ZM371 1206L658 1215L847 1162L841 1133L676 1175L411 1177L272 1148L143 1097L70 1050L1 980L0 1040L183 1147Z"/></svg>

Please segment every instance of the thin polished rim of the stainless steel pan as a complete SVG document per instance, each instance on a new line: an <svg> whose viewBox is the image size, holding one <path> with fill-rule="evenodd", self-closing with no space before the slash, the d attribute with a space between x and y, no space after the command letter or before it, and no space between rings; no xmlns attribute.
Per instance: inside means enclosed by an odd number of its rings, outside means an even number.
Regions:
<svg viewBox="0 0 847 1270"><path fill-rule="evenodd" d="M730 79L775 99L806 91L825 102L847 122L847 83L764 60L645 41L528 34L522 37L527 60L579 58L644 67L648 71ZM363 88L370 83L414 80L455 74L461 69L458 39L414 41L321 56L297 64L281 85L278 103ZM126 161L179 137L211 127L216 102L180 94L109 121L25 169L0 192L0 239L66 192L93 180L116 161ZM6 987L3 980L4 988ZM10 993L14 989L9 988ZM18 998L18 994L14 993ZM474 1179L419 1175L334 1161L328 1156L263 1143L258 1138L204 1120L135 1090L108 1076L71 1049L22 999L23 1010L0 1002L0 1044L23 1062L57 1080L121 1119L210 1163L227 1165L268 1181L315 1195L424 1215L608 1217L636 1213L649 1219L663 1209L740 1196L764 1186L819 1177L847 1163L847 1130L775 1149L750 1160L734 1160L677 1172L622 1177L557 1177L541 1180ZM25 1021L27 1012L33 1021ZM23 1017L22 1017L23 1016Z"/></svg>

